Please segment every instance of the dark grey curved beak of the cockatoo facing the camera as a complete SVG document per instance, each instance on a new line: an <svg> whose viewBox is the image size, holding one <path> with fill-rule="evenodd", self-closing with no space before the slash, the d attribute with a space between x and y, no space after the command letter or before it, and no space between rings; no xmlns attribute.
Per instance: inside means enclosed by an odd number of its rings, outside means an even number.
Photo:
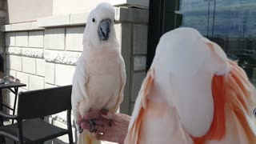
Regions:
<svg viewBox="0 0 256 144"><path fill-rule="evenodd" d="M98 26L98 36L102 41L107 41L110 36L111 20L103 19Z"/></svg>

